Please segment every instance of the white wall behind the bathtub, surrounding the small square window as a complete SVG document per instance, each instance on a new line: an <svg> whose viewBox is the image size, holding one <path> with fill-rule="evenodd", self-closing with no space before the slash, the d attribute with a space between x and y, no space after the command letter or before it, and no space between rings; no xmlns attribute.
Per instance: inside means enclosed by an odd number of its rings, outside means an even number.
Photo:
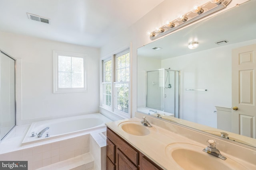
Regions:
<svg viewBox="0 0 256 170"><path fill-rule="evenodd" d="M5 32L0 39L0 48L18 59L18 124L99 111L98 48ZM87 55L88 92L53 94L53 50Z"/></svg>

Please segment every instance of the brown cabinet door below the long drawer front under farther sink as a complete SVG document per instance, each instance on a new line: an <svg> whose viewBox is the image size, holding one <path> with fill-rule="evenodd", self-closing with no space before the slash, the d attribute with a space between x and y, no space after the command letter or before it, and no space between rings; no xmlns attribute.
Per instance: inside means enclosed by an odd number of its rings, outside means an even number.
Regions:
<svg viewBox="0 0 256 170"><path fill-rule="evenodd" d="M116 170L137 170L138 168L122 154L122 152L116 150Z"/></svg>

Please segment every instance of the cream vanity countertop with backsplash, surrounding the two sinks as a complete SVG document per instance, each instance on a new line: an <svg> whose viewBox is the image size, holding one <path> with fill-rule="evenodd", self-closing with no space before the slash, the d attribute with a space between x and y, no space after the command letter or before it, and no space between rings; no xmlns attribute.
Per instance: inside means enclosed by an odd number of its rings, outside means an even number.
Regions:
<svg viewBox="0 0 256 170"><path fill-rule="evenodd" d="M206 141L214 139L216 141L216 148L220 150L221 154L227 156L250 170L256 169L256 148L243 147L230 143L228 140L219 139L211 135L206 135L198 131L176 125L175 123L168 123L166 121L146 116L150 124L157 129L154 135L146 135L138 137L124 132L118 125L124 121L141 121L145 116L142 113L135 113L135 117L126 120L119 120L115 122L106 123L114 132L128 141L133 147L145 154L148 158L154 160L163 169L182 169L174 160L170 160L166 154L166 147L171 143L189 143L202 146L202 149L208 146ZM203 152L203 151L202 151Z"/></svg>

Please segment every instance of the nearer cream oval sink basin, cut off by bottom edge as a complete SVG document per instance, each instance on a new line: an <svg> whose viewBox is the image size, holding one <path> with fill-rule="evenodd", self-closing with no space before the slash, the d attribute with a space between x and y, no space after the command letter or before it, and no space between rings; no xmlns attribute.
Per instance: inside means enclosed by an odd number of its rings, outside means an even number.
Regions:
<svg viewBox="0 0 256 170"><path fill-rule="evenodd" d="M222 160L203 152L204 147L188 143L174 143L166 147L166 156L184 170L246 170L244 166L227 157ZM220 151L221 152L221 151Z"/></svg>

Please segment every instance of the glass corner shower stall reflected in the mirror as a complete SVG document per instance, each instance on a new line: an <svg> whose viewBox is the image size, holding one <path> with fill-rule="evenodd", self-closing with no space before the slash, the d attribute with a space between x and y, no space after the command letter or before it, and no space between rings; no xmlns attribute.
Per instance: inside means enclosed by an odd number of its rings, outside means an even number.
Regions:
<svg viewBox="0 0 256 170"><path fill-rule="evenodd" d="M170 69L147 71L146 107L179 117L180 72Z"/></svg>

